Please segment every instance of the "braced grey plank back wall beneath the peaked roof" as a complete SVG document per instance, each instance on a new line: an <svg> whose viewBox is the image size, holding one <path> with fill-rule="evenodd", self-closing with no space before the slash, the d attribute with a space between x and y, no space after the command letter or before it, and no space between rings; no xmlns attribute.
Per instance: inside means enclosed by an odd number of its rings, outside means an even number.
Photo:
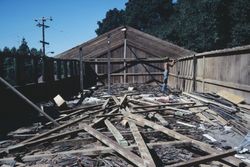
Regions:
<svg viewBox="0 0 250 167"><path fill-rule="evenodd" d="M135 56L136 55L136 56ZM150 58L157 58L155 56L152 56L148 53L145 53L144 51L141 51L139 49L135 49L132 46L128 46L126 50L126 61L124 60L124 47L120 47L114 51L111 52L111 62L114 61L120 61L120 63L112 63L111 64L111 71L116 71L124 67L124 65L130 65L130 60L135 60L136 58L139 59L150 59ZM89 61L90 59L88 59ZM92 61L107 61L107 54L102 55L98 58L92 59ZM121 62L122 61L122 62ZM157 67L160 67L163 69L163 63L150 63ZM98 63L94 64L92 63L92 68L95 69L96 73L99 76L102 76L104 74L107 74L107 63ZM147 83L150 80L152 80L152 76L148 73L150 71L150 74L153 75L153 77L159 81L162 80L162 71L159 69L155 69L153 67L150 67L148 65L142 65L140 63L137 63L136 65L124 70L119 71L116 73L111 74L111 83ZM106 83L106 79L104 80Z"/></svg>

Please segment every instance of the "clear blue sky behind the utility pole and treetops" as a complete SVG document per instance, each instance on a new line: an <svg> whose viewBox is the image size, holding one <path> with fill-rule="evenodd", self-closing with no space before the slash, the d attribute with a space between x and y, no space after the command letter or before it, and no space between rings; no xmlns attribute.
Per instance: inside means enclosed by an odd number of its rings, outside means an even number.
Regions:
<svg viewBox="0 0 250 167"><path fill-rule="evenodd" d="M109 9L124 9L128 0L0 0L0 49L18 47L24 37L30 47L41 48L41 28L34 19L47 21L46 52L55 55L96 37L97 21Z"/></svg>

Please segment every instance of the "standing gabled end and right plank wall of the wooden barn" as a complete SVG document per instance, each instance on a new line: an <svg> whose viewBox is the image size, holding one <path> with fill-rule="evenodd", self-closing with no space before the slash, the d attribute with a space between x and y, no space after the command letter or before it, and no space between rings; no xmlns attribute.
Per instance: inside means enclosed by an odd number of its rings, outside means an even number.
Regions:
<svg viewBox="0 0 250 167"><path fill-rule="evenodd" d="M80 51L82 48L82 52ZM169 83L182 91L226 90L250 102L250 46L195 53L132 27L118 27L59 55L91 64L107 83L158 83L167 58L178 62ZM110 59L109 59L110 58ZM110 68L108 68L110 62Z"/></svg>

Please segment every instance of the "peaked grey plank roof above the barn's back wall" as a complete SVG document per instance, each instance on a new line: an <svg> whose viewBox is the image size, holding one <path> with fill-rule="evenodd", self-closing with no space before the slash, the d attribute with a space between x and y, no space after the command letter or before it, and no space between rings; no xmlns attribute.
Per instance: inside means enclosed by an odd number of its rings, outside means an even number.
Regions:
<svg viewBox="0 0 250 167"><path fill-rule="evenodd" d="M122 31L124 28L126 28L126 31ZM108 36L110 38L110 50L115 50L122 47L126 36L127 45L159 58L179 58L194 54L193 51L161 40L132 27L121 26L61 54L58 54L56 57L62 59L78 59L80 48L82 48L85 58L95 58L102 56L108 51Z"/></svg>

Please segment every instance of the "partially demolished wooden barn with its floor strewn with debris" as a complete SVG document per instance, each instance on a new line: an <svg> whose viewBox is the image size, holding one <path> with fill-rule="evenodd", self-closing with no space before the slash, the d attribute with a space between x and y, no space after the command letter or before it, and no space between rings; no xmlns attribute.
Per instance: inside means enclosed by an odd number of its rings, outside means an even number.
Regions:
<svg viewBox="0 0 250 167"><path fill-rule="evenodd" d="M48 84L37 89L54 92L44 103L33 101L28 88L13 88L52 118L9 132L0 141L0 164L249 166L249 54L250 46L195 53L118 27L47 63L54 70L43 73ZM164 94L169 59L177 63ZM70 81L49 87L63 79ZM64 94L71 84L74 93ZM10 91L6 87L1 89ZM57 94L60 104L53 100Z"/></svg>

